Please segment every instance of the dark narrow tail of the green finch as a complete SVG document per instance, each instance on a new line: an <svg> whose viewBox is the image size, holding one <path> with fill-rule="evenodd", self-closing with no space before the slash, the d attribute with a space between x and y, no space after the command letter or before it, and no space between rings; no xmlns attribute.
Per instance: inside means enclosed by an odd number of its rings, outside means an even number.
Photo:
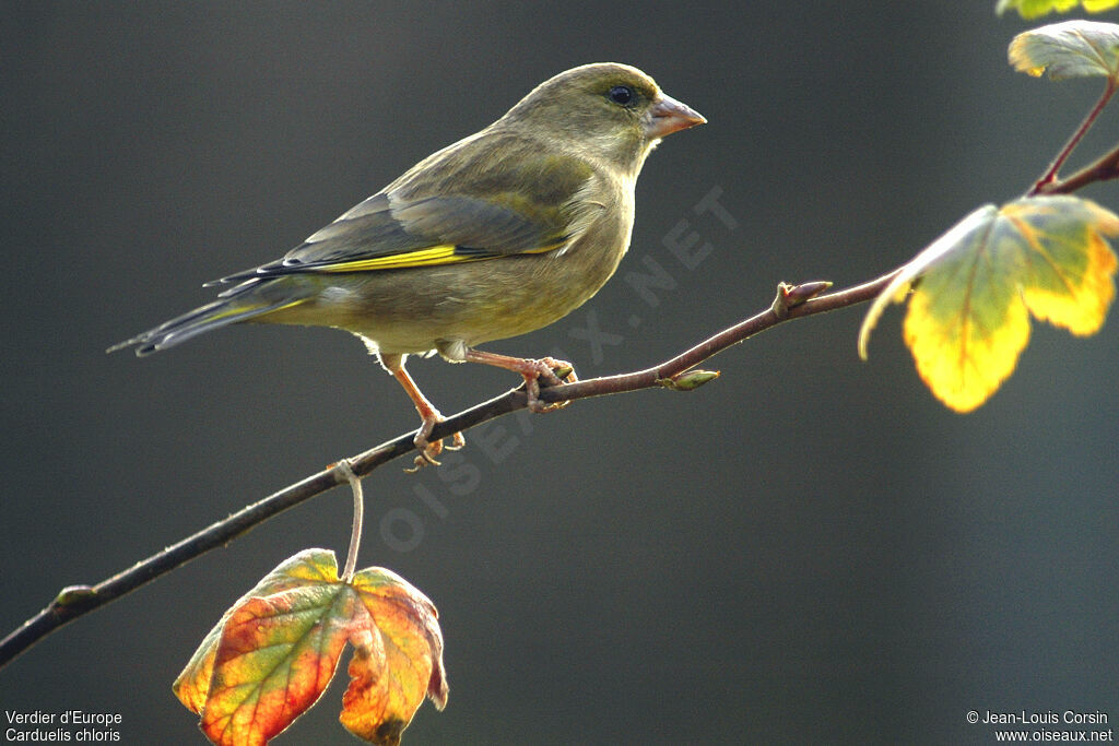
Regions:
<svg viewBox="0 0 1119 746"><path fill-rule="evenodd" d="M105 351L115 352L132 347L135 348L138 356L143 357L175 347L211 329L248 321L265 313L299 305L307 300L309 295L292 295L289 283L250 280L225 291L213 303L164 321L154 329L113 344Z"/></svg>

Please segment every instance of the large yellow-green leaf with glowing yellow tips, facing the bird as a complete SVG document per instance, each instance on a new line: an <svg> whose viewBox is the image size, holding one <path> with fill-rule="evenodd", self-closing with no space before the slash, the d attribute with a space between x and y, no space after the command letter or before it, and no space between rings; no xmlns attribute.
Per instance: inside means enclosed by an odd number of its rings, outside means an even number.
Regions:
<svg viewBox="0 0 1119 746"><path fill-rule="evenodd" d="M1031 314L1076 336L1100 329L1115 298L1107 236L1117 235L1119 217L1076 197L980 207L878 295L859 330L859 355L866 358L885 306L909 298L903 336L918 372L947 406L970 412L1014 371Z"/></svg>

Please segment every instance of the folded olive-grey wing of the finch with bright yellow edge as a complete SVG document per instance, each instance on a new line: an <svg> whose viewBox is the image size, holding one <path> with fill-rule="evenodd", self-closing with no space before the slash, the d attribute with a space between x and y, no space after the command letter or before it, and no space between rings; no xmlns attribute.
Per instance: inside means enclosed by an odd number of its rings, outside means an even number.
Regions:
<svg viewBox="0 0 1119 746"><path fill-rule="evenodd" d="M572 238L574 201L594 179L582 160L517 135L482 133L416 164L282 259L218 282L554 251Z"/></svg>

